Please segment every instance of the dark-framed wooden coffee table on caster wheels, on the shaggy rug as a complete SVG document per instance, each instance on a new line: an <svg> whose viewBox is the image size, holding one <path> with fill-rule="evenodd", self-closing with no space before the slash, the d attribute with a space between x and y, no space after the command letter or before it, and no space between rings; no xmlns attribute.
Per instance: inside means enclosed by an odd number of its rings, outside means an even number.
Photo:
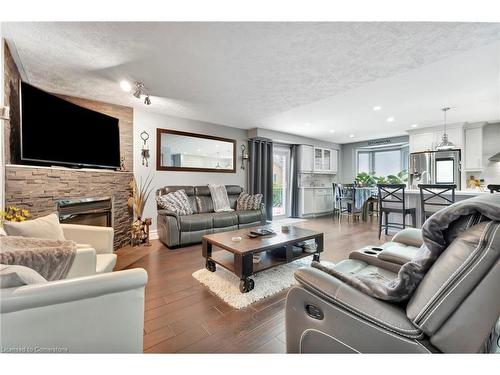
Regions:
<svg viewBox="0 0 500 375"><path fill-rule="evenodd" d="M256 228L272 228L276 234L249 238L248 233ZM241 237L241 241L233 241L233 237ZM316 252L294 254L292 246L298 242L314 239ZM319 261L319 254L323 251L323 233L310 229L290 227L288 233L281 232L281 226L266 225L254 228L244 228L229 232L208 234L202 237L202 253L206 259L206 268L215 272L216 264L233 272L240 278L240 291L249 292L254 288L254 281L250 278L254 273L272 267L289 263L314 254L314 260ZM220 250L214 251L214 247ZM267 250L286 248L286 257L274 257ZM259 263L253 263L253 254L262 253Z"/></svg>

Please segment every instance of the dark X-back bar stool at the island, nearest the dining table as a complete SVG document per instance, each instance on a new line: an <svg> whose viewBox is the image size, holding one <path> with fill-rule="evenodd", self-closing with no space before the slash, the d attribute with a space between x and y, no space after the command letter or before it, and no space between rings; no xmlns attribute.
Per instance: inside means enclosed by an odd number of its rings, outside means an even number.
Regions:
<svg viewBox="0 0 500 375"><path fill-rule="evenodd" d="M405 201L405 184L377 184L378 202L379 202L379 220L378 220L378 238L382 233L382 228L385 228L385 234L389 228L405 229L406 215L411 216L411 226L415 227L417 221L417 210L415 207L407 208ZM401 196L399 196L401 195ZM390 203L391 206L385 204ZM403 222L389 222L389 214L397 213L403 216ZM382 224L382 216L385 218L385 223Z"/></svg>

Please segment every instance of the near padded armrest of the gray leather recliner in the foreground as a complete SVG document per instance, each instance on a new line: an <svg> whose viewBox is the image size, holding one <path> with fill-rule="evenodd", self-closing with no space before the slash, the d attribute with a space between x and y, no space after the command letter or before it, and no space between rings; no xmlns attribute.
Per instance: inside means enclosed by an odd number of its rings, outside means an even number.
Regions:
<svg viewBox="0 0 500 375"><path fill-rule="evenodd" d="M295 278L313 294L366 321L408 338L422 336L403 308L370 297L323 271L301 268L295 272Z"/></svg>

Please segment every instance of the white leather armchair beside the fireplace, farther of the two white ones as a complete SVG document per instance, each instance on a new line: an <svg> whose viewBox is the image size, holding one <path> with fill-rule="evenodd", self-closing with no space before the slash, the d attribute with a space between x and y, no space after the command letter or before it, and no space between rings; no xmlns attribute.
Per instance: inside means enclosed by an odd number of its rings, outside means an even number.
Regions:
<svg viewBox="0 0 500 375"><path fill-rule="evenodd" d="M61 224L64 237L78 244L77 253L67 278L113 271L113 228L91 225Z"/></svg>

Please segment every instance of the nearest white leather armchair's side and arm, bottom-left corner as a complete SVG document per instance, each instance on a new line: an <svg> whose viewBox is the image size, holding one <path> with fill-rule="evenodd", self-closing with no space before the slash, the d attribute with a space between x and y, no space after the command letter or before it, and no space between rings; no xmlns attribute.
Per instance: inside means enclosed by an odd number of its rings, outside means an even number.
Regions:
<svg viewBox="0 0 500 375"><path fill-rule="evenodd" d="M4 352L142 352L143 269L0 289Z"/></svg>

